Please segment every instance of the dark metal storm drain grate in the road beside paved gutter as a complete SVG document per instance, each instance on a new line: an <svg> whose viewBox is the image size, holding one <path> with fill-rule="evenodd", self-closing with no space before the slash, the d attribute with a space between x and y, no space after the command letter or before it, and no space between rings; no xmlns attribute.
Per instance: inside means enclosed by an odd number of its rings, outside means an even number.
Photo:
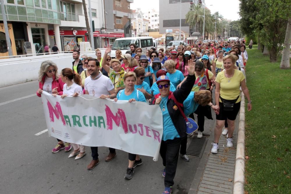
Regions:
<svg viewBox="0 0 291 194"><path fill-rule="evenodd" d="M195 134L194 137L191 139L191 143L189 144L187 148L187 155L201 158L203 151L205 149L206 143L207 143L207 136L203 136L202 138L197 138L197 135Z"/></svg>

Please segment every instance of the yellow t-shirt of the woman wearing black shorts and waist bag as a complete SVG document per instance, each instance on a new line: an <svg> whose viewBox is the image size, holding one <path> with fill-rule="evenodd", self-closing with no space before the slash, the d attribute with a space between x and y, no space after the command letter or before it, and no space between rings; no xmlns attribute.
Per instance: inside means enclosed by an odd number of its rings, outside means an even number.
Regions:
<svg viewBox="0 0 291 194"><path fill-rule="evenodd" d="M245 79L244 74L239 71L239 70L235 70L233 76L231 79L227 79L226 76L224 75L224 71L219 72L216 76L216 82L220 83L220 96L223 99L226 100L234 100L237 98L237 96L239 95L239 98L237 99L238 103L241 100L240 97L240 82L243 81ZM228 80L230 80L230 82L228 82ZM221 99L219 98L219 102L221 102Z"/></svg>

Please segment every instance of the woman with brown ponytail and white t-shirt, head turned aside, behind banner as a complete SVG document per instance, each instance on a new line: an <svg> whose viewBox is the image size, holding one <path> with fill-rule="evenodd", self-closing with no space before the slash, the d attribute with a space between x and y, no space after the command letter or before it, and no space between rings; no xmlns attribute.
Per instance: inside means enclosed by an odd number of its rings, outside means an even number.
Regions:
<svg viewBox="0 0 291 194"><path fill-rule="evenodd" d="M74 74L74 72L70 68L65 68L60 73L61 80L65 83L63 87L63 95L61 98L66 96L73 96L74 94L83 94L83 89L81 87L81 76L79 74ZM57 94L53 94L56 96ZM86 155L85 146L78 144L71 144L74 151L70 153L68 158L75 157L75 160L83 158Z"/></svg>

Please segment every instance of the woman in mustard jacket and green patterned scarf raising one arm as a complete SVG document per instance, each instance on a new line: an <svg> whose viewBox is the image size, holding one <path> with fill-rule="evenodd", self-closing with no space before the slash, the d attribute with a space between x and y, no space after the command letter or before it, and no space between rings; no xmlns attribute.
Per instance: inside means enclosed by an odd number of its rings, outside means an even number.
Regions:
<svg viewBox="0 0 291 194"><path fill-rule="evenodd" d="M106 47L103 58L107 58L108 53L110 53L110 52L111 52L110 46ZM135 60L132 57L130 57L130 59ZM123 78L124 78L124 75L126 72L123 69L123 67L121 67L120 61L118 59L111 59L109 62L109 65L105 65L104 61L102 61L102 63L103 63L102 67L106 72L108 72L107 75L109 75L108 77L111 80L116 93L118 93L120 90L124 89L125 84L124 84ZM112 67L112 69L110 68L110 66Z"/></svg>

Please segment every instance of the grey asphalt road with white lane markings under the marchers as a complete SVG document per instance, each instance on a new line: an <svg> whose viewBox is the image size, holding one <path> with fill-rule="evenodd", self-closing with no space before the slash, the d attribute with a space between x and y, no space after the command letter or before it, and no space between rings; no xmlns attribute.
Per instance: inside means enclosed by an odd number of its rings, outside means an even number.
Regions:
<svg viewBox="0 0 291 194"><path fill-rule="evenodd" d="M52 153L56 138L49 137L41 98L33 95L38 82L31 81L0 88L0 193L162 193L164 168L162 159L154 162L141 156L143 164L135 168L133 178L124 179L128 165L126 152L105 162L108 148L100 147L100 163L87 170L91 149L79 160L68 158L64 149ZM23 98L24 97L24 98ZM23 99L22 99L23 98ZM205 120L205 131L213 121ZM209 142L208 142L209 143ZM179 157L174 193L188 193L200 159L190 157L185 162Z"/></svg>

